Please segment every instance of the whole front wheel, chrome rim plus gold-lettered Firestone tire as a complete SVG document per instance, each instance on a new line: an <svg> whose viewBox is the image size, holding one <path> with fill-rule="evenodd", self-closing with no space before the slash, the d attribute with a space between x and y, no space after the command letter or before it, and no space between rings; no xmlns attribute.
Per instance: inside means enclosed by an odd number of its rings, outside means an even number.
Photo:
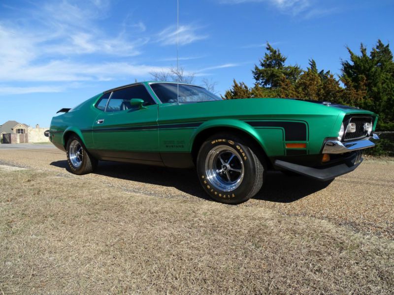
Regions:
<svg viewBox="0 0 394 295"><path fill-rule="evenodd" d="M264 167L250 145L231 134L217 134L205 141L197 156L202 187L215 201L238 204L259 192Z"/></svg>

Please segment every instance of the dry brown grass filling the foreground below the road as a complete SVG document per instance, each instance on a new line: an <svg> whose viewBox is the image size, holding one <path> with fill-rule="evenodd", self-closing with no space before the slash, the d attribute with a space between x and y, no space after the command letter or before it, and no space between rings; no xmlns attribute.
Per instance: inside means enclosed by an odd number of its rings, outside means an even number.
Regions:
<svg viewBox="0 0 394 295"><path fill-rule="evenodd" d="M0 172L0 294L390 294L394 242L310 217Z"/></svg>

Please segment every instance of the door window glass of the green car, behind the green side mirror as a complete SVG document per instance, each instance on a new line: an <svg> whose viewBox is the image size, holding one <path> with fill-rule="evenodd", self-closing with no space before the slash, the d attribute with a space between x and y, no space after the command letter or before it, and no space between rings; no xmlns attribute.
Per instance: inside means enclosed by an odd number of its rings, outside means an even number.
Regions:
<svg viewBox="0 0 394 295"><path fill-rule="evenodd" d="M143 85L136 85L125 89L114 91L109 100L106 112L118 112L130 109L136 109L131 107L130 100L132 98L140 98L145 101L144 105L155 104L153 98L149 95L149 92Z"/></svg>

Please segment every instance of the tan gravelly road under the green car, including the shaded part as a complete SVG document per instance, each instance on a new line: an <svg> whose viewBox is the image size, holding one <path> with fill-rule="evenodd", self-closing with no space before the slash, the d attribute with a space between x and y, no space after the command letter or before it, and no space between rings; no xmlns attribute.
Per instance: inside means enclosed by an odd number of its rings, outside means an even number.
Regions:
<svg viewBox="0 0 394 295"><path fill-rule="evenodd" d="M65 177L64 185L67 177L77 177L158 198L211 202L193 170L100 162L95 173L75 176L66 169L66 154L50 145L0 146L0 164L53 171ZM365 160L354 172L329 182L272 172L263 189L238 206L325 219L362 234L394 238L394 161Z"/></svg>

